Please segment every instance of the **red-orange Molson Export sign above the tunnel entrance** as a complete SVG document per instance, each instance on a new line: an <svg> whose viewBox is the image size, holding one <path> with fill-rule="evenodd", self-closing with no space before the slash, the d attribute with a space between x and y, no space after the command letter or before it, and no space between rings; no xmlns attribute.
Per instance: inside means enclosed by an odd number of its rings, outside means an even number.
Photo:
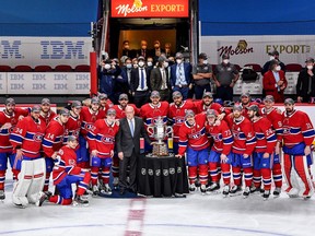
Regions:
<svg viewBox="0 0 315 236"><path fill-rule="evenodd" d="M188 17L189 0L112 0L112 17Z"/></svg>

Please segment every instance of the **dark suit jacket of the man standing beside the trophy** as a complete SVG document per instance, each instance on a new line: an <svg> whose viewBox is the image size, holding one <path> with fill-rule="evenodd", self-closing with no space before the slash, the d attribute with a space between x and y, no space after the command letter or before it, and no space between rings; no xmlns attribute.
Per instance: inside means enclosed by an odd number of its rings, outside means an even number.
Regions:
<svg viewBox="0 0 315 236"><path fill-rule="evenodd" d="M117 152L122 152L124 156L131 156L135 149L136 155L140 154L140 138L143 137L147 143L151 143L143 120L135 117L135 131L131 135L129 122L127 118L120 119L119 131L116 135Z"/></svg>

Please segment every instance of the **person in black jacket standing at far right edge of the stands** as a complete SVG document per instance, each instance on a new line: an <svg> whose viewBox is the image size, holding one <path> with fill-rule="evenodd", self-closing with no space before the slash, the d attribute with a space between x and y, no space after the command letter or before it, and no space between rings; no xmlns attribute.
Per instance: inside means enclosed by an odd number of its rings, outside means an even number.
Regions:
<svg viewBox="0 0 315 236"><path fill-rule="evenodd" d="M314 59L307 58L305 61L306 66L303 68L298 78L296 95L299 103L314 102L312 98L315 97L315 68Z"/></svg>

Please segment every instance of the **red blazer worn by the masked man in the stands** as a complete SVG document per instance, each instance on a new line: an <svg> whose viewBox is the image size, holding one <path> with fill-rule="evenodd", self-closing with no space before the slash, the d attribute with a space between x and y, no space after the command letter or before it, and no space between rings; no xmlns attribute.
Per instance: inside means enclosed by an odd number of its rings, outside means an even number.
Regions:
<svg viewBox="0 0 315 236"><path fill-rule="evenodd" d="M280 76L280 80L283 81L283 84L284 84L283 90L278 91L278 87L276 87L276 78L273 76L273 73L271 70L267 71L264 74L262 87L265 90L266 95L273 96L276 103L283 103L284 102L283 91L288 86L288 81L285 79L284 71L280 70L279 76Z"/></svg>

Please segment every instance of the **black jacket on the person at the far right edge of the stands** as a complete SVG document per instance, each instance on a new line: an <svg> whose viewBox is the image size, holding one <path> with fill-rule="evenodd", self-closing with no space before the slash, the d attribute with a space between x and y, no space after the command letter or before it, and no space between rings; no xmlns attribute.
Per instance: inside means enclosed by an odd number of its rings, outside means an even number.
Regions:
<svg viewBox="0 0 315 236"><path fill-rule="evenodd" d="M315 74L315 69L313 69L313 73ZM308 84L312 80L311 84L311 94L308 94ZM298 84L296 84L296 95L303 97L303 102L307 103L307 98L310 96L315 96L315 76L312 78L307 73L307 69L303 68L298 78Z"/></svg>

